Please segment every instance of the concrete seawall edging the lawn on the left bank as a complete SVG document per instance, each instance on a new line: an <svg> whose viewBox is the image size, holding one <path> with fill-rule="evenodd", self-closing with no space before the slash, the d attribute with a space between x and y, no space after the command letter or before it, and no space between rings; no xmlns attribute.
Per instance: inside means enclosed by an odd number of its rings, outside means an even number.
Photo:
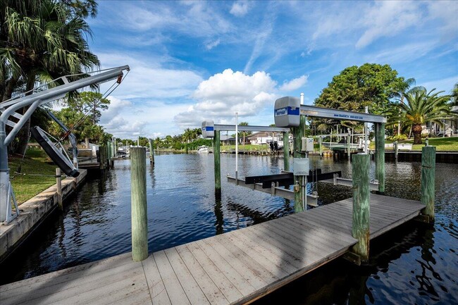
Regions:
<svg viewBox="0 0 458 305"><path fill-rule="evenodd" d="M62 180L62 196L64 200L68 195L75 192L77 187L85 180L86 175L87 170L80 170L78 178ZM21 204L19 206L20 216L8 223L8 225L0 225L0 262L6 259L57 206L56 185L45 189L37 196Z"/></svg>

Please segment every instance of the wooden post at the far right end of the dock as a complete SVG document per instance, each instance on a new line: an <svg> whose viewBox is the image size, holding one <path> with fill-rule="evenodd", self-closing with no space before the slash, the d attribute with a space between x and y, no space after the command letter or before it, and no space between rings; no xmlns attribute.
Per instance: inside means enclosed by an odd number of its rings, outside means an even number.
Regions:
<svg viewBox="0 0 458 305"><path fill-rule="evenodd" d="M421 148L421 203L426 205L425 215L434 222L435 147Z"/></svg>

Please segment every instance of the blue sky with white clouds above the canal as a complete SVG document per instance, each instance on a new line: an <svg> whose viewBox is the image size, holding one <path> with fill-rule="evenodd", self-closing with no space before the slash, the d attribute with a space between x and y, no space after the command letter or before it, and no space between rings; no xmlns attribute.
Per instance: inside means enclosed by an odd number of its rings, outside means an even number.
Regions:
<svg viewBox="0 0 458 305"><path fill-rule="evenodd" d="M178 135L203 120L235 123L236 112L269 125L279 97L303 92L313 104L364 63L447 94L458 82L458 1L98 3L89 47L101 68L131 69L101 116L116 137Z"/></svg>

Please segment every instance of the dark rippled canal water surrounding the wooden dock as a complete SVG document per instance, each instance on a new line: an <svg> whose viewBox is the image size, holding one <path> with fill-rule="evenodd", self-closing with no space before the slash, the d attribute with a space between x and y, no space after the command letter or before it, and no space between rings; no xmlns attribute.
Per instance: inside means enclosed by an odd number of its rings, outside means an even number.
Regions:
<svg viewBox="0 0 458 305"><path fill-rule="evenodd" d="M312 157L323 173L351 165ZM240 156L239 176L279 173L283 158ZM375 166L371 165L371 177ZM420 199L420 163L387 163L386 194ZM221 156L221 173L234 175L235 155ZM147 166L149 251L237 230L293 212L293 203L222 179L213 192L212 154L164 154ZM310 183L319 204L352 197L348 187ZM435 225L408 223L371 242L371 265L343 259L318 268L256 304L458 304L458 165L436 167ZM88 180L64 213L54 213L7 261L0 284L130 251L130 161L115 161Z"/></svg>

